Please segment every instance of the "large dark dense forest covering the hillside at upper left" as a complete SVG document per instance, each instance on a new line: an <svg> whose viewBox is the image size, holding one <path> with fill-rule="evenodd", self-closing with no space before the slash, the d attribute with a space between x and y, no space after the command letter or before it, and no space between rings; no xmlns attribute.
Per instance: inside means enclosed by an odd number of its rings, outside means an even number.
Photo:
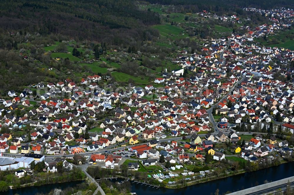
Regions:
<svg viewBox="0 0 294 195"><path fill-rule="evenodd" d="M60 34L75 40L96 40L108 45L129 45L150 39L147 26L160 23L159 15L126 0L1 1L0 32Z"/></svg>

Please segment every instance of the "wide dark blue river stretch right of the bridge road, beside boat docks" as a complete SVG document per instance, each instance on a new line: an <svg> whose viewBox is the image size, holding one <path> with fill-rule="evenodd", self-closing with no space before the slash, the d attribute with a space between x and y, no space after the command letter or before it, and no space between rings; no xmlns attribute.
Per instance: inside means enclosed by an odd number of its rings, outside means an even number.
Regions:
<svg viewBox="0 0 294 195"><path fill-rule="evenodd" d="M265 180L273 182L292 176L294 176L294 162L284 163L275 167L270 167L254 172L246 172L210 182L195 184L180 189L155 189L152 187L145 187L141 184L132 184L132 192L136 192L138 195L210 195L214 194L216 189L219 189L219 194L223 194L227 191L234 192L256 186L256 182L258 182L258 185L261 185L264 184Z"/></svg>

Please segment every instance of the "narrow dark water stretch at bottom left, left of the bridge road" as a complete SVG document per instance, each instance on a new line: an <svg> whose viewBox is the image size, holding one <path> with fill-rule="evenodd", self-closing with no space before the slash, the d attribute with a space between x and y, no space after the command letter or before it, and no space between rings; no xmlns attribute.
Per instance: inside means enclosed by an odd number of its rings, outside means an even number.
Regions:
<svg viewBox="0 0 294 195"><path fill-rule="evenodd" d="M1 195L35 195L38 192L41 194L48 194L52 189L58 188L58 189L66 189L67 187L74 187L77 184L81 184L85 182L84 180L80 181L73 181L73 182L65 182L65 183L57 183L57 184L48 184L48 185L41 185L41 186L30 186L30 187L24 187L24 188L18 188L18 189L10 189L6 192L1 192Z"/></svg>

